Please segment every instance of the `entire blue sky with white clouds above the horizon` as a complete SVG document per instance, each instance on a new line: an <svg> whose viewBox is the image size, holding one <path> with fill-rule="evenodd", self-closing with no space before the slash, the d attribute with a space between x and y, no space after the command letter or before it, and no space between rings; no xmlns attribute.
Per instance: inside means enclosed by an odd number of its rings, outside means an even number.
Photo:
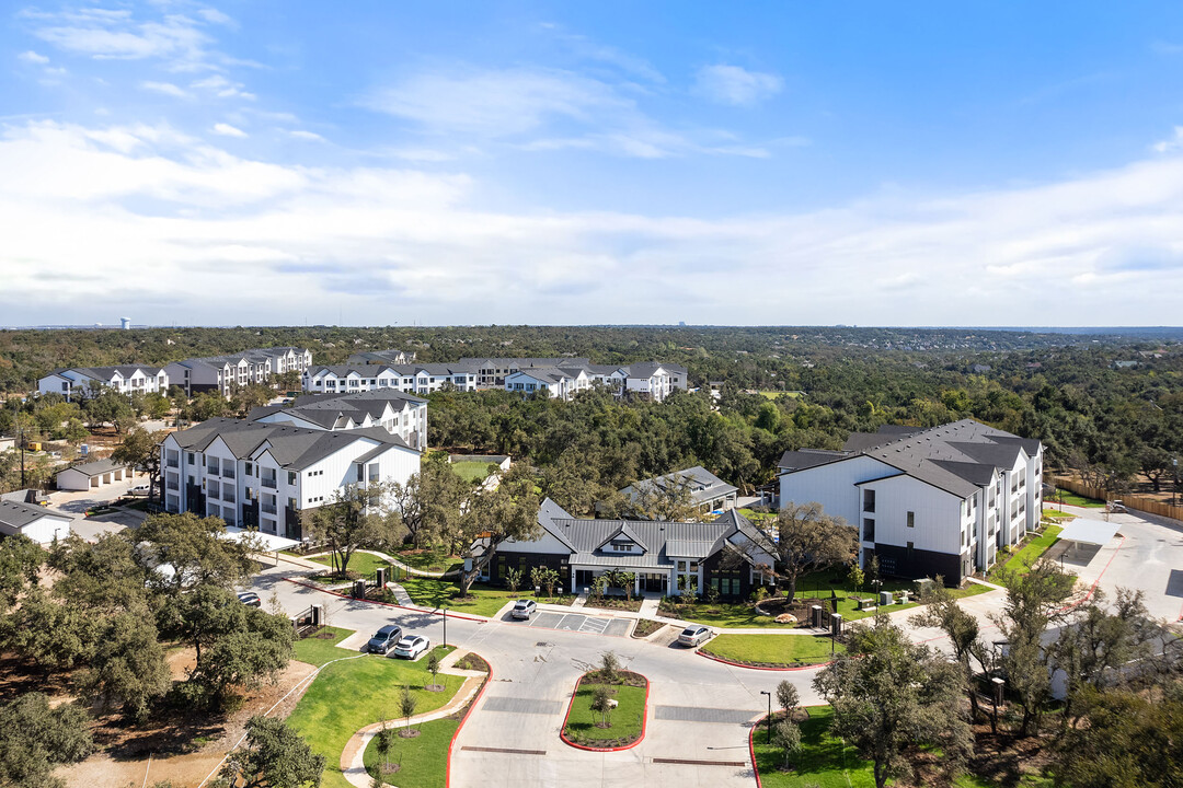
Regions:
<svg viewBox="0 0 1183 788"><path fill-rule="evenodd" d="M1178 324L1183 6L6 6L0 325Z"/></svg>

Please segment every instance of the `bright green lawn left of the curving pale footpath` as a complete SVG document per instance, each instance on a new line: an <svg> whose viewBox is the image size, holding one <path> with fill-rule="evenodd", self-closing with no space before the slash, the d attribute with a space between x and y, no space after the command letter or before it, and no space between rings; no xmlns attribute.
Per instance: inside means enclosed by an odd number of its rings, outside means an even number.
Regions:
<svg viewBox="0 0 1183 788"><path fill-rule="evenodd" d="M357 656L357 652L343 649L337 651ZM438 646L435 651L442 657L451 649ZM422 689L432 683L432 676L427 672L427 657L408 663L364 655L324 667L287 718L287 723L308 741L312 750L324 756L324 780L321 784L325 788L350 788L341 774L341 751L345 748L345 742L363 725L377 722L383 716L393 719L399 714L403 685L411 686L411 692L418 701L415 714L424 714L447 703L464 683L459 676L444 673L435 680L447 689L444 692Z"/></svg>

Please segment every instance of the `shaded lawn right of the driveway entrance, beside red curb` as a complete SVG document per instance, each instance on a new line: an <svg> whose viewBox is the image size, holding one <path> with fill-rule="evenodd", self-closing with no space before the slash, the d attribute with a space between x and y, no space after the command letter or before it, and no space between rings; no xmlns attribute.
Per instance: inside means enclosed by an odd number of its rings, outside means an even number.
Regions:
<svg viewBox="0 0 1183 788"><path fill-rule="evenodd" d="M764 725L754 731L761 784L765 788L874 788L871 762L829 735L834 710L827 705L809 706L806 711L809 718L801 722L801 751L793 761L793 771L781 771L784 753L765 743Z"/></svg>

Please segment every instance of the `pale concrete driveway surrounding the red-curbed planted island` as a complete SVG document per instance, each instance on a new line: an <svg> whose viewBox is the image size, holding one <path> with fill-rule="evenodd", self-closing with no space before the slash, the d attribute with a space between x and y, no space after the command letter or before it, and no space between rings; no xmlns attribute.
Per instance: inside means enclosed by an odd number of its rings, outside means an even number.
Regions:
<svg viewBox="0 0 1183 788"><path fill-rule="evenodd" d="M284 580L296 574L297 567L282 562L258 575L253 587L265 605L274 593L287 613L324 604L331 626L371 632L396 623L442 643L439 616L342 599ZM605 621L602 629L600 621ZM479 653L493 669L492 683L452 750L452 788L638 783L750 788L748 734L768 706L761 690L775 691L777 683L789 680L803 703L820 702L810 685L817 669L738 669L668 643L605 637L610 627L631 624L550 612L536 614L530 623L450 617L448 643ZM646 735L622 753L577 750L564 744L558 731L575 680L607 650L649 679Z"/></svg>

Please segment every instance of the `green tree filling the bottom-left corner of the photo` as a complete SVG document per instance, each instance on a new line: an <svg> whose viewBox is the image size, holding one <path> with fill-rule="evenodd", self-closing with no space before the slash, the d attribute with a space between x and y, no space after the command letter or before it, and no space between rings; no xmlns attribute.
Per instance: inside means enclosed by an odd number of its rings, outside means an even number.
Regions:
<svg viewBox="0 0 1183 788"><path fill-rule="evenodd" d="M63 703L51 709L41 692L0 704L0 786L64 788L53 769L95 751L89 723L82 706Z"/></svg>

